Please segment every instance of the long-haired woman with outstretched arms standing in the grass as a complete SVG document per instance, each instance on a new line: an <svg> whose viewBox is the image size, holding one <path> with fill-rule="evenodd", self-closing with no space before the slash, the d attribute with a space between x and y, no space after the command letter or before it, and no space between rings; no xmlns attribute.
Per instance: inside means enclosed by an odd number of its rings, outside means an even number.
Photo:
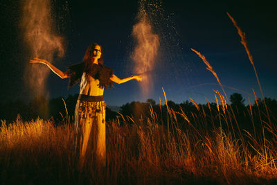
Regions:
<svg viewBox="0 0 277 185"><path fill-rule="evenodd" d="M99 44L91 44L82 63L75 64L66 72L60 71L46 60L35 58L30 63L46 64L60 78L70 78L69 87L80 82L80 94L75 107L76 152L79 155L78 168L91 159L98 166L105 166L106 159L106 124L104 88L111 87L113 82L118 84L135 79L141 81L141 76L118 78L113 70L103 66L103 51Z"/></svg>

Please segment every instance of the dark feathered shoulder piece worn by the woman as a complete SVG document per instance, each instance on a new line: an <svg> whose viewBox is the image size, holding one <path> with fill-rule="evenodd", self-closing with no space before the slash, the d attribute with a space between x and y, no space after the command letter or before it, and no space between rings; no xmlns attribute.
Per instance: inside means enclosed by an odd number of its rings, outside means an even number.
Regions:
<svg viewBox="0 0 277 185"><path fill-rule="evenodd" d="M66 74L69 76L69 88L75 85L82 78L82 73L87 73L94 79L99 80L99 87L107 89L113 85L109 79L114 73L114 70L105 67L101 64L90 64L86 66L85 62L68 67Z"/></svg>

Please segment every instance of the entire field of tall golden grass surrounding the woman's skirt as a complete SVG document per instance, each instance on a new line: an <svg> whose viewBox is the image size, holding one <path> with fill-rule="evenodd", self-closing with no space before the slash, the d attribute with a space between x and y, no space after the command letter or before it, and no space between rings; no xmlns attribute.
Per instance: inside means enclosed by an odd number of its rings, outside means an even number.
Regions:
<svg viewBox="0 0 277 185"><path fill-rule="evenodd" d="M247 144L242 148L240 136L227 128L229 109L215 114L210 107L213 115L208 116L195 106L198 113L191 115L166 106L170 120L166 127L152 107L150 117L140 121L130 117L111 121L107 124L107 167L87 168L83 173L75 165L71 124L54 126L41 119L23 123L20 118L8 125L2 121L1 183L263 184L277 178L277 130L270 124L256 136L245 130ZM258 111L251 110L249 121L259 118ZM269 140L265 132L274 138Z"/></svg>

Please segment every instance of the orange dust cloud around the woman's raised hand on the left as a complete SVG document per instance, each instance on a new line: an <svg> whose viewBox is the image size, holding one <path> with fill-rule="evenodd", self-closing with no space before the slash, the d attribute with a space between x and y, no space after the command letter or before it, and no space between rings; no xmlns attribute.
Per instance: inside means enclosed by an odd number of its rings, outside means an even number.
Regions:
<svg viewBox="0 0 277 185"><path fill-rule="evenodd" d="M64 55L63 38L54 31L50 0L24 0L21 23L31 58L52 62L55 56ZM24 80L31 89L31 95L47 96L46 78L50 70L42 64L26 65Z"/></svg>

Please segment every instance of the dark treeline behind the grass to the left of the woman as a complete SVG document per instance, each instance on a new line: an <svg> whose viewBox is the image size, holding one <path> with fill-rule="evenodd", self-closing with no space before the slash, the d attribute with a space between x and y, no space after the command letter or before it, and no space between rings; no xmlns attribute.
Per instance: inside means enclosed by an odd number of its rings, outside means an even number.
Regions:
<svg viewBox="0 0 277 185"><path fill-rule="evenodd" d="M36 118L53 119L55 123L64 123L66 116L73 121L75 105L78 94L69 95L67 98L51 98L48 100L44 96L37 96L26 103L23 100L11 100L6 103L0 103L0 120L6 120L12 123L17 118L23 121L35 120ZM107 107L107 119L116 118L117 113L112 112Z"/></svg>

